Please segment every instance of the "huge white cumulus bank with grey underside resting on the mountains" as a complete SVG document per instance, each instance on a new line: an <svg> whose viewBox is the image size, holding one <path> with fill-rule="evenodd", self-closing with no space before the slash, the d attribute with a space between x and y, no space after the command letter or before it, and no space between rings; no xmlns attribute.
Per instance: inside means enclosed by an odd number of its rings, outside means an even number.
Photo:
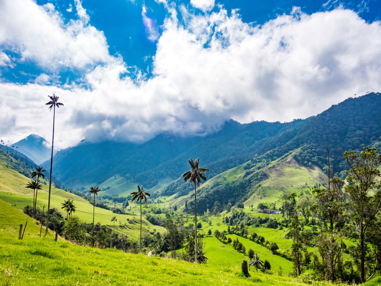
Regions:
<svg viewBox="0 0 381 286"><path fill-rule="evenodd" d="M30 133L49 138L52 114L42 95L52 93L65 104L55 136L63 148L85 137L139 142L163 131L205 134L230 118L291 121L381 90L379 21L342 8L312 15L295 8L254 26L235 10L180 10L184 23L175 10L165 20L149 79L136 79L122 58L107 54L84 75L89 88L0 83L0 120L12 121L3 134L11 141Z"/></svg>

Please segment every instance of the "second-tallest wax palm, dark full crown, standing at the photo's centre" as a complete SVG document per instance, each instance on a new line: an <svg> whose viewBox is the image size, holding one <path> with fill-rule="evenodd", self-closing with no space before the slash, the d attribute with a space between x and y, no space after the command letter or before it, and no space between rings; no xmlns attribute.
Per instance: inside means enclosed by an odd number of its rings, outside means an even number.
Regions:
<svg viewBox="0 0 381 286"><path fill-rule="evenodd" d="M182 178L184 178L184 182L189 181L194 183L194 249L195 253L197 253L197 194L196 194L196 184L200 186L201 179L206 181L207 177L205 177L204 172L209 172L209 169L200 168L199 167L200 158L197 158L195 161L193 159L188 160L189 166L191 170L182 174ZM194 258L194 263L197 263L197 257Z"/></svg>

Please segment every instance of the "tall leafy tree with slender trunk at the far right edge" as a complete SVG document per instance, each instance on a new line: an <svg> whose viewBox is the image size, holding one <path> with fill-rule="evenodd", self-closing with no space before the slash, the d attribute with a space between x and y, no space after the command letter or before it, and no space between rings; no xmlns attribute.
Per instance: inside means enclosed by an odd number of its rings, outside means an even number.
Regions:
<svg viewBox="0 0 381 286"><path fill-rule="evenodd" d="M378 169L381 163L381 155L376 148L364 147L364 151L357 154L355 151L347 151L343 154L349 170L346 171L348 185L344 190L351 200L350 210L352 220L357 227L351 227L352 241L357 245L360 255L361 282L365 281L365 257L368 252L366 245L366 232L372 226L381 206L381 175Z"/></svg>

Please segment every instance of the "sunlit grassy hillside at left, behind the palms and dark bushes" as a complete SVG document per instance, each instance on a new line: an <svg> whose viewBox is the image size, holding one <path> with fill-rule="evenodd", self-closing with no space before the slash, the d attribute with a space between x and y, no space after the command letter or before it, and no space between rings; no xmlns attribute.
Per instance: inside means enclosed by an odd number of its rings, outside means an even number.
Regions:
<svg viewBox="0 0 381 286"><path fill-rule="evenodd" d="M16 207L19 209L23 209L24 206L28 204L31 205L33 201L33 190L25 188L29 180L30 179L24 175L4 167L0 161L0 199L3 201L16 205ZM43 185L43 189L38 191L37 206L43 206L43 204L45 204L46 208L48 203L48 191L48 185ZM50 202L51 207L56 207L57 209L61 210L61 203L64 201L64 199L68 198L73 199L74 204L77 207L77 211L74 213L74 215L79 216L87 222L93 222L93 206L85 199L75 194L68 193L64 190L52 188ZM63 210L61 213L64 217L66 217L66 213L64 213ZM137 215L114 214L110 210L102 209L99 207L95 208L95 222L100 222L103 225L111 225L111 218L114 215L118 219L116 226L118 227L119 232L126 233L127 235L130 235L134 238L139 237L140 217ZM128 223L127 219L133 220L136 222L136 224ZM119 222L122 223L121 227L119 227ZM163 227L152 225L144 218L142 222L142 228L144 232L152 231L153 229L156 229L159 232L165 231Z"/></svg>

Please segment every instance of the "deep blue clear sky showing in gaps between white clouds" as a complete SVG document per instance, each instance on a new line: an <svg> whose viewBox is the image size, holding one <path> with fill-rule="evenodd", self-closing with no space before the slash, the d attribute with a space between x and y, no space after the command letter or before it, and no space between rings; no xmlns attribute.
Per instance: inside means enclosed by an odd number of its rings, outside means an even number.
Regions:
<svg viewBox="0 0 381 286"><path fill-rule="evenodd" d="M53 3L56 10L62 14L64 21L75 18L74 1L55 0L46 1L38 0L38 5ZM189 1L174 1L176 9L179 5L184 4L190 8L192 13L203 13L197 8L192 7ZM228 11L239 9L239 14L244 22L254 22L256 24L264 24L270 19L276 18L280 14L289 14L294 6L301 7L304 13L312 14L318 11L329 11L339 6L356 11L361 18L367 22L378 20L381 13L381 2L376 0L357 0L357 1L305 1L305 0L285 0L285 1L248 1L248 0L227 0L216 1L215 4L223 5ZM168 16L168 10L163 3L157 3L154 0L83 0L82 6L86 8L90 16L90 24L98 30L103 31L109 52L111 55L122 55L124 61L131 66L148 71L148 75L152 76L152 56L156 53L157 41L149 40L146 28L142 21L142 6L147 7L147 16L155 22L159 33L164 19ZM67 11L67 9L71 11ZM213 9L218 10L218 7ZM17 53L8 50L9 55L18 57ZM11 82L27 83L35 80L44 69L39 68L33 62L18 63L12 69L2 68L4 80ZM81 80L82 74L76 69L61 69L55 71L59 76L59 81L63 84L67 79Z"/></svg>

